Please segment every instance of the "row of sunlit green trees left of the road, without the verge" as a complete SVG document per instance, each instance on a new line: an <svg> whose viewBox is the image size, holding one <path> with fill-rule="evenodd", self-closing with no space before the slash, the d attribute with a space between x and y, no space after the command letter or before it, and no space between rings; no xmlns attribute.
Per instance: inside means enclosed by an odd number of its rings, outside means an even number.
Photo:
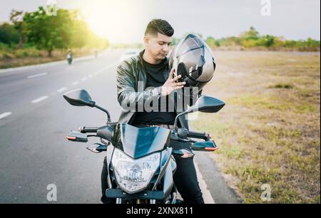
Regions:
<svg viewBox="0 0 321 218"><path fill-rule="evenodd" d="M0 46L25 48L34 46L52 52L57 48L106 48L108 41L96 36L78 10L57 9L56 15L37 11L12 10L10 22L0 25ZM1 48L1 47L0 47Z"/></svg>

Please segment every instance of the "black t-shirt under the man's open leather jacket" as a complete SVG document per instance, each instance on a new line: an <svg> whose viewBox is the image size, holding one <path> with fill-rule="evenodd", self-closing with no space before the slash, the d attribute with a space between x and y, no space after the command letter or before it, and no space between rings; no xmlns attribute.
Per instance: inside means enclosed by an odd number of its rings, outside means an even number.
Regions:
<svg viewBox="0 0 321 218"><path fill-rule="evenodd" d="M165 59L158 64L151 64L143 60L143 66L146 70L146 87L158 87L165 83L166 66ZM152 105L152 104L151 104ZM166 112L161 112L161 108ZM162 110L162 111L163 111ZM158 101L158 110L146 112L145 108L143 112L137 112L133 120L135 124L168 124L173 125L175 120L175 112L168 112L168 97L166 97L166 104L161 104L161 99Z"/></svg>

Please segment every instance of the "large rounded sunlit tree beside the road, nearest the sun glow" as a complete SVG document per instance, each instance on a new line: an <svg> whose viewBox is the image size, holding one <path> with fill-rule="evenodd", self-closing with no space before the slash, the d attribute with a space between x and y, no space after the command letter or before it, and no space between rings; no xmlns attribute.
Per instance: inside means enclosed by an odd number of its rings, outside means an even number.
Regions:
<svg viewBox="0 0 321 218"><path fill-rule="evenodd" d="M108 41L99 38L86 24L79 11L58 9L56 16L49 16L43 7L24 15L24 33L28 41L52 56L55 48L106 48Z"/></svg>

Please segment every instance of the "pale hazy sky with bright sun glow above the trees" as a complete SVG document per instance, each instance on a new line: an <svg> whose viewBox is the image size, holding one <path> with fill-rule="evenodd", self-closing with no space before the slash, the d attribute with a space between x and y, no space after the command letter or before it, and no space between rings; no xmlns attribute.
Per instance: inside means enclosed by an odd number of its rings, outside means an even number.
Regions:
<svg viewBox="0 0 321 218"><path fill-rule="evenodd" d="M11 9L36 11L53 0L0 0L0 22ZM238 36L250 26L260 34L320 40L320 0L56 0L58 8L79 9L91 29L111 43L142 43L151 19L165 19L175 37ZM265 15L265 16L264 16Z"/></svg>

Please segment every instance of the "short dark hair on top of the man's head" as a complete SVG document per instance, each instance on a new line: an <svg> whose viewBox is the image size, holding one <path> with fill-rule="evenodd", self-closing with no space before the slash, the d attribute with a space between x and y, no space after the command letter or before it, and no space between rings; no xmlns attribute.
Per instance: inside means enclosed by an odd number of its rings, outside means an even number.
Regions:
<svg viewBox="0 0 321 218"><path fill-rule="evenodd" d="M162 19L153 19L146 27L145 36L147 34L156 36L157 33L161 33L165 36L173 36L174 29L172 26L170 26L170 24L168 24L168 21Z"/></svg>

